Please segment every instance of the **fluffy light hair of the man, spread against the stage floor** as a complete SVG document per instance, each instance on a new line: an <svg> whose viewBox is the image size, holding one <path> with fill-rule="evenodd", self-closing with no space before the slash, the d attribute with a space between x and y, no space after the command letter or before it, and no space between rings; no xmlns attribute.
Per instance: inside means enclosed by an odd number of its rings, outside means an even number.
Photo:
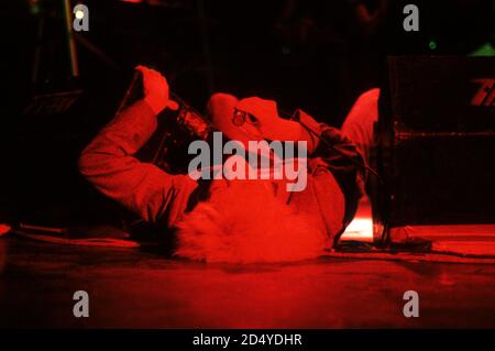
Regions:
<svg viewBox="0 0 495 351"><path fill-rule="evenodd" d="M208 201L176 224L179 257L206 262L283 262L323 253L327 234L294 212L270 180L213 180Z"/></svg>

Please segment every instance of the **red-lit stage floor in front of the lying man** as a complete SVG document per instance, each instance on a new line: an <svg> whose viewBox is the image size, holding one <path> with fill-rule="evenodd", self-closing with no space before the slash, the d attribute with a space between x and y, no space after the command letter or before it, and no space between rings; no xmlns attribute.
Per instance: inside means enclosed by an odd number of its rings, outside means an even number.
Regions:
<svg viewBox="0 0 495 351"><path fill-rule="evenodd" d="M89 294L89 318L73 316L76 290ZM403 315L406 290L419 294L418 318ZM495 327L495 265L414 257L209 265L7 235L0 327Z"/></svg>

